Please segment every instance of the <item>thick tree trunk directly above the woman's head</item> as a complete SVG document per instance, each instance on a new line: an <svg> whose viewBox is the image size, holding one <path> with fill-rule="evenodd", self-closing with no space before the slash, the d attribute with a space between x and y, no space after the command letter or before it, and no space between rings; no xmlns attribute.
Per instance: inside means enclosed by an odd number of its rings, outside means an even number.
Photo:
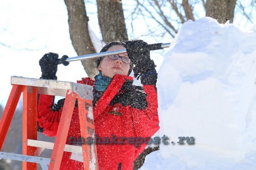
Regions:
<svg viewBox="0 0 256 170"><path fill-rule="evenodd" d="M103 41L128 40L121 0L97 0L97 8Z"/></svg>

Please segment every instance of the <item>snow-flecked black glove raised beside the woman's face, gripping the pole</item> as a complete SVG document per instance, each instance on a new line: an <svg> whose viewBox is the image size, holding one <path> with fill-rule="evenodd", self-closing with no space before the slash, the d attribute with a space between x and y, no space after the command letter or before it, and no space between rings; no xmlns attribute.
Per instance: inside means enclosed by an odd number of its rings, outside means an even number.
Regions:
<svg viewBox="0 0 256 170"><path fill-rule="evenodd" d="M148 43L142 40L126 41L126 51L128 57L135 64L133 68L134 76L141 77L142 84L156 83L157 73L155 71L155 63L150 59L150 50Z"/></svg>

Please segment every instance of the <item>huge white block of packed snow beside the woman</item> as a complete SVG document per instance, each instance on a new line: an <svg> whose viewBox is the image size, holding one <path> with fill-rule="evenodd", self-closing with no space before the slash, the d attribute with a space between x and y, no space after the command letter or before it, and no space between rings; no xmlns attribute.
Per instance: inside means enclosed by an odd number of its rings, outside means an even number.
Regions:
<svg viewBox="0 0 256 170"><path fill-rule="evenodd" d="M158 71L160 137L141 170L256 167L256 27L184 23ZM180 145L178 137L194 137ZM171 141L174 144L171 144Z"/></svg>

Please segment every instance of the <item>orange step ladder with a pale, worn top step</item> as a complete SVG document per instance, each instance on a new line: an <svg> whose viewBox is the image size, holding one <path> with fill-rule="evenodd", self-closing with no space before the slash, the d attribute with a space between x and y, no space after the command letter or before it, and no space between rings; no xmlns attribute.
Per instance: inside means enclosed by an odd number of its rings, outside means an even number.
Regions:
<svg viewBox="0 0 256 170"><path fill-rule="evenodd" d="M40 164L43 170L59 170L63 152L69 151L82 155L84 170L98 170L95 144L66 145L76 100L79 108L81 137L94 138L93 88L91 86L18 76L11 77L11 84L13 88L0 120L0 159L22 161L22 170L37 170L37 164ZM22 154L1 152L21 93L23 94ZM38 94L66 96L54 143L37 140ZM39 157L43 149L53 150L51 158Z"/></svg>

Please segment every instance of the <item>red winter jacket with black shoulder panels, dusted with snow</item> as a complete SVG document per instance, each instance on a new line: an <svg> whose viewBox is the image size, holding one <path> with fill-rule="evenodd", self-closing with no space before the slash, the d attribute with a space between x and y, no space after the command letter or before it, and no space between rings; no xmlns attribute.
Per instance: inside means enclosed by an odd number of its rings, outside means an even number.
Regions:
<svg viewBox="0 0 256 170"><path fill-rule="evenodd" d="M115 141L114 137L118 142L96 145L99 170L132 170L133 162L147 145L144 142L139 145L141 137L151 137L159 129L155 86L134 86L132 80L129 76L115 75L103 94L94 90L95 134L101 139L108 137L110 141ZM93 85L90 78L78 82ZM41 94L39 97L38 124L47 136L56 135L63 106L61 101L58 105L53 102L54 96ZM74 107L67 144L69 137L80 136L78 108ZM127 139L121 141L121 137ZM133 139L138 141L137 145ZM64 152L61 170L81 170L83 164L70 156L70 152Z"/></svg>

